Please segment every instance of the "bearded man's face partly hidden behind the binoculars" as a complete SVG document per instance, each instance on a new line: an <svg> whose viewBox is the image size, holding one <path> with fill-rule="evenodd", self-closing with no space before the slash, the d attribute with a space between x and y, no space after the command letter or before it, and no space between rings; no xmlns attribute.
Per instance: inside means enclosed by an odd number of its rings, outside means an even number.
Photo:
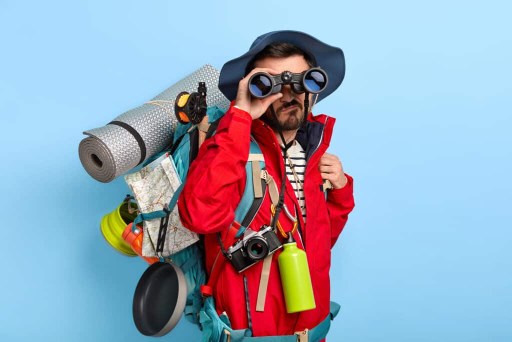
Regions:
<svg viewBox="0 0 512 342"><path fill-rule="evenodd" d="M290 57L265 57L254 64L256 68L270 68L280 73L288 70L294 73L301 73L310 68L306 60L301 55ZM306 119L304 117L304 96L305 94L296 94L289 85L283 85L281 92L283 97L274 101L275 115L278 117L281 129L283 131L295 130L301 127ZM310 95L311 97L311 95ZM311 101L311 98L310 98ZM311 103L311 102L310 102ZM260 119L276 130L275 121L270 109L260 117Z"/></svg>

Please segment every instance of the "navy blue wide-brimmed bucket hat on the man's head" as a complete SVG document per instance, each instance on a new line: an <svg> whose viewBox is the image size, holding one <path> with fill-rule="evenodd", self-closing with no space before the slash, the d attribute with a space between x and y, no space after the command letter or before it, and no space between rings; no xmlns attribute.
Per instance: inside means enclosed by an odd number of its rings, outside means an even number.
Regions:
<svg viewBox="0 0 512 342"><path fill-rule="evenodd" d="M299 31L273 31L262 34L252 43L249 51L224 64L219 77L219 89L229 99L237 97L238 83L245 76L245 67L258 52L272 43L294 44L311 54L316 66L324 69L329 82L324 91L318 94L318 100L330 95L342 84L345 77L345 56L342 49L325 44L307 33Z"/></svg>

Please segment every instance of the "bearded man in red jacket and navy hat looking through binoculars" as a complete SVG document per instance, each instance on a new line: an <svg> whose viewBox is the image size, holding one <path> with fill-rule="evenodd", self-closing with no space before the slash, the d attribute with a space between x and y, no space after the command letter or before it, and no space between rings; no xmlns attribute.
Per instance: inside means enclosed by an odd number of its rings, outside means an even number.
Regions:
<svg viewBox="0 0 512 342"><path fill-rule="evenodd" d="M266 170L279 189L286 158L284 204L291 209L292 215L295 214L298 229L293 229L288 215L279 216L279 222L285 232L292 232L297 247L307 254L316 308L286 312L277 261L280 251L272 255L270 269L267 269L269 277L263 309L259 290L264 263L259 261L238 273L231 263L225 262L213 290L217 312L226 312L233 329L252 326L253 336L292 335L314 328L329 314L331 248L354 207L352 177L344 173L336 156L326 152L335 119L311 113L306 118L305 93L293 92L290 85L264 99L251 97L248 91L248 79L255 72L278 75L288 70L301 73L317 66L322 67L329 77L326 89L318 95L321 100L343 81L343 52L296 31L264 34L256 39L247 53L226 63L221 71L219 88L232 100L231 107L221 119L216 134L206 140L190 166L178 201L184 226L205 234L206 269L210 271L220 249L216 233L226 236L244 191L251 136L260 146ZM310 95L310 104L314 97ZM293 146L288 155L283 155L280 145L290 142ZM327 190L327 199L323 189L326 179L333 186ZM269 197L264 197L250 224L252 230L270 225ZM283 240L283 236L280 238ZM246 298L251 322L246 311Z"/></svg>

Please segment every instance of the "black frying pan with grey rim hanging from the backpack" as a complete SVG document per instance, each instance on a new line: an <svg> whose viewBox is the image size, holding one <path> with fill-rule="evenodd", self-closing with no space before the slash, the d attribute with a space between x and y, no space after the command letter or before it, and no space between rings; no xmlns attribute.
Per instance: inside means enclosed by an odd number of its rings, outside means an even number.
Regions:
<svg viewBox="0 0 512 342"><path fill-rule="evenodd" d="M185 308L187 284L172 263L151 265L140 277L133 296L133 320L141 334L159 337L171 331Z"/></svg>

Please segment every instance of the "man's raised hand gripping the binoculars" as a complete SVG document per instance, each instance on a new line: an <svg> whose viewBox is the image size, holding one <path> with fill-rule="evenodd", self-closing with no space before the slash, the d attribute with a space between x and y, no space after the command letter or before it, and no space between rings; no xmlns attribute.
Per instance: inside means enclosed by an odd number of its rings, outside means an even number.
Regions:
<svg viewBox="0 0 512 342"><path fill-rule="evenodd" d="M234 101L234 105L249 113L253 120L262 116L271 103L283 96L282 93L273 94L265 98L254 98L251 96L248 88L249 78L259 71L264 71L272 75L279 74L279 72L268 68L252 69L251 72L249 72L247 76L242 78L242 81L238 83L237 99Z"/></svg>

